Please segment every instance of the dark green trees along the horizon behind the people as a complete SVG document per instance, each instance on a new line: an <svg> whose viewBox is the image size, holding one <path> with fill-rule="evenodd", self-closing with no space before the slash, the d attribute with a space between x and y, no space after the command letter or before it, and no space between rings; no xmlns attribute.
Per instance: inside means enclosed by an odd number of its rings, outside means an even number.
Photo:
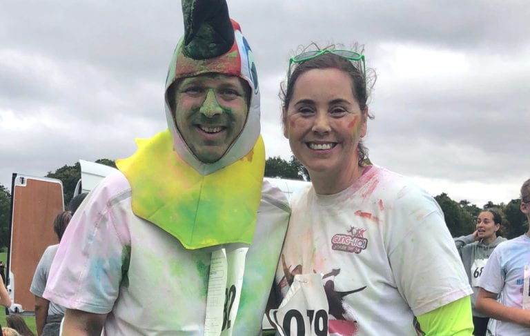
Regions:
<svg viewBox="0 0 530 336"><path fill-rule="evenodd" d="M115 161L110 159L96 160L98 164L116 167ZM284 160L281 157L269 157L265 161L265 176L277 177L282 179L299 179L309 181L309 174L306 168L294 156L291 159ZM72 166L64 165L55 170L48 172L46 177L60 179L63 183L63 197L65 204L68 204L73 197L73 192L77 181L81 179L81 166L79 162ZM519 208L520 199L511 199L507 204L493 204L489 201L482 208L471 204L467 200L454 201L445 192L434 197L440 208L444 212L445 222L449 232L453 237L469 235L475 230L475 219L482 210L488 208L498 208L502 214L501 233L502 237L508 239L518 237L528 229L527 217L524 216ZM10 220L11 195L10 190L0 184L0 247L8 246L9 237L9 220ZM51 224L50 224L51 226Z"/></svg>

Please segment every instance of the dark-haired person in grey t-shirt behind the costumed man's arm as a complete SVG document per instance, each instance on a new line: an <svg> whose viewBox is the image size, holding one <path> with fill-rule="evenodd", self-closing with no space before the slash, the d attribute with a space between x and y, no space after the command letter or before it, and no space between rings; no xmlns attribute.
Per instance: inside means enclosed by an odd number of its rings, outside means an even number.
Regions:
<svg viewBox="0 0 530 336"><path fill-rule="evenodd" d="M59 213L53 221L53 230L59 243L70 219L72 219L72 213L66 210ZM31 282L30 292L35 295L35 324L39 336L58 336L61 319L64 316L62 306L43 297L46 283L50 277L52 261L58 248L59 244L55 244L44 250Z"/></svg>

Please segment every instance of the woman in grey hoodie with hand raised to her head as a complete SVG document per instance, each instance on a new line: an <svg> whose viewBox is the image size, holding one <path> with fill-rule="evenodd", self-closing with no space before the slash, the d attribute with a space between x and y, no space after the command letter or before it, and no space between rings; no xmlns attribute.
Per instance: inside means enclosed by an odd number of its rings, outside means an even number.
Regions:
<svg viewBox="0 0 530 336"><path fill-rule="evenodd" d="M476 230L471 235L455 238L456 248L462 258L464 269L469 278L469 284L473 288L471 295L471 310L473 313L473 335L485 336L489 317L478 312L475 308L475 300L478 293L478 279L482 270L493 253L495 247L507 239L500 237L497 233L502 224L500 210L489 208L478 214Z"/></svg>

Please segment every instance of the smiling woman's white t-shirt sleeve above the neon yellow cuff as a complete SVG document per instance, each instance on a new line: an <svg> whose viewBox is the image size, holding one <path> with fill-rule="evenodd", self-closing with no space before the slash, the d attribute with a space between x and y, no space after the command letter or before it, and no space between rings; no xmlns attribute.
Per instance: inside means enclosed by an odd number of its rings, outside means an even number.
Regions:
<svg viewBox="0 0 530 336"><path fill-rule="evenodd" d="M435 200L424 190L409 192L395 209L393 216L404 229L391 237L397 243L390 246L389 261L397 290L414 315L470 295L462 260Z"/></svg>

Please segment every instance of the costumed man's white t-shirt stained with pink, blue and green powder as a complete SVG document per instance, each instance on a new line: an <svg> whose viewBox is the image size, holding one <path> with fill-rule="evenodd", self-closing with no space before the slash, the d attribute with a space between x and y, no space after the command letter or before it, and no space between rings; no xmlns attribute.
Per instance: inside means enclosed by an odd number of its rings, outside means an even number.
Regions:
<svg viewBox="0 0 530 336"><path fill-rule="evenodd" d="M135 216L130 195L121 172L90 192L61 240L44 297L108 314L104 335L204 335L210 262L218 247L187 250ZM221 288L225 311L237 309L234 321L221 318L232 335L262 331L289 213L282 192L264 181L237 307L233 293L226 288L225 298Z"/></svg>

